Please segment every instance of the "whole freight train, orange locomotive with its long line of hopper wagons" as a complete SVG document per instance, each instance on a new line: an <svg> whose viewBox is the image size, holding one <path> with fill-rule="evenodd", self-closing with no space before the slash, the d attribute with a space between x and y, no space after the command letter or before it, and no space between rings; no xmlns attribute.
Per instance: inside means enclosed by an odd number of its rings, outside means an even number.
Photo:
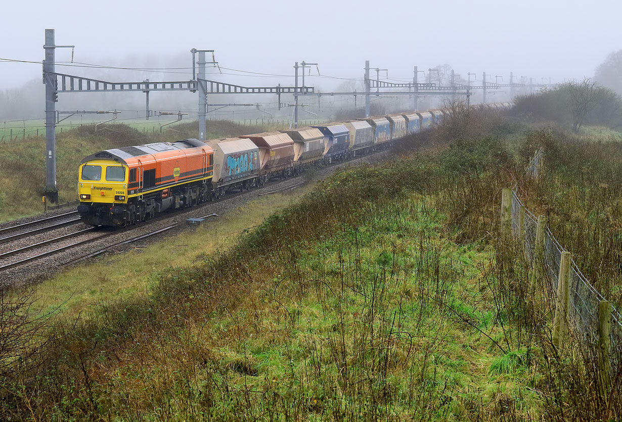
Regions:
<svg viewBox="0 0 622 422"><path fill-rule="evenodd" d="M441 110L427 110L238 138L183 139L99 151L80 163L78 213L88 225L131 225L229 191L262 186L274 177L299 174L308 166L386 148L442 119Z"/></svg>

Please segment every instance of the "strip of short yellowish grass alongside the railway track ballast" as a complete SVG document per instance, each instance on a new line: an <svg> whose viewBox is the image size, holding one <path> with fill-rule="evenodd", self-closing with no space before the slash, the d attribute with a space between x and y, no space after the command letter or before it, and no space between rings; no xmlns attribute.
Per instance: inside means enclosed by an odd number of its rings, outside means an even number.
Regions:
<svg viewBox="0 0 622 422"><path fill-rule="evenodd" d="M40 315L88 318L93 309L148 296L162 272L193 266L208 254L228 248L249 227L258 225L309 189L305 186L287 194L259 197L222 217L209 218L195 231L184 231L164 242L71 267L37 284L34 295L39 299L34 307Z"/></svg>

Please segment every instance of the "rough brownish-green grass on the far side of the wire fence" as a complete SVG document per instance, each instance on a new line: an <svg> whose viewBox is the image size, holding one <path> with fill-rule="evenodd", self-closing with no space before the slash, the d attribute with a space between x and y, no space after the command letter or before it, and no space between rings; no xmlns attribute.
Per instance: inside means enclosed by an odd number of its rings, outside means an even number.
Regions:
<svg viewBox="0 0 622 422"><path fill-rule="evenodd" d="M545 171L519 184L527 208L547 225L601 294L622 307L622 143L554 130L534 132Z"/></svg>

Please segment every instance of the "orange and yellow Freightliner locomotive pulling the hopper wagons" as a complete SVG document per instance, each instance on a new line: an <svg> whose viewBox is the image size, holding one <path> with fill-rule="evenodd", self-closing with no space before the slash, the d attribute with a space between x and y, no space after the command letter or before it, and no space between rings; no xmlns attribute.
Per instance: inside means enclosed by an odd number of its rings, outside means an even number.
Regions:
<svg viewBox="0 0 622 422"><path fill-rule="evenodd" d="M90 225L123 226L210 197L213 150L196 139L126 146L80 163L78 213Z"/></svg>

